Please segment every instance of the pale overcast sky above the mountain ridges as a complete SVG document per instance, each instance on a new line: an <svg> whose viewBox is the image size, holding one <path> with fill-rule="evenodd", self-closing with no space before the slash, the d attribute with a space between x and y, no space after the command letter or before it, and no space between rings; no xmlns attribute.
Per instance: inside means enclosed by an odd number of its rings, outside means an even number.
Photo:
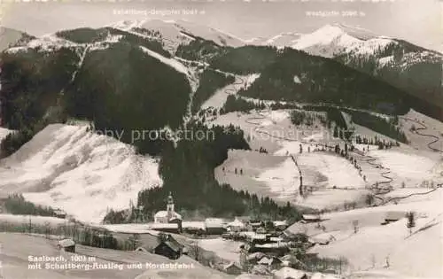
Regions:
<svg viewBox="0 0 443 279"><path fill-rule="evenodd" d="M115 0L115 3L65 0L1 4L0 12L3 26L24 30L31 35L74 27L100 27L121 19L145 17L115 15L114 10L147 13L174 10L179 11L180 15L150 17L188 19L245 39L289 31L308 33L325 24L338 22L442 51L442 3L439 0L132 0L124 3L121 0ZM196 11L197 14L184 15L183 10ZM346 11L357 12L358 16L307 15L307 12Z"/></svg>

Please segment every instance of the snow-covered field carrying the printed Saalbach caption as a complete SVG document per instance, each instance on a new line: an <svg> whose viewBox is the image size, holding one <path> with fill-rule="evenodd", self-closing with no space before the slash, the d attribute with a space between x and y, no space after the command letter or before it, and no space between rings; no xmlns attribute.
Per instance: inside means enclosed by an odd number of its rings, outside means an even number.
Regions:
<svg viewBox="0 0 443 279"><path fill-rule="evenodd" d="M56 242L44 237L27 236L23 234L0 233L2 244L2 269L0 275L4 278L35 278L35 279L80 279L80 278L106 278L106 279L131 279L131 278L234 278L219 271L204 267L187 256L178 260L169 260L166 257L147 252L118 251L110 249L94 248L77 244L75 253L60 252L56 248ZM97 263L102 268L28 268L29 256L60 256L66 262L72 262L72 255L85 255L95 257L96 260L89 264ZM80 258L79 258L80 259ZM54 261L49 262L55 264ZM85 263L76 260L76 264ZM128 263L141 263L142 268L129 268ZM146 267L147 263L154 265L172 264L172 267ZM31 263L32 264L32 263ZM106 268L107 267L107 268ZM182 268L181 268L182 267Z"/></svg>

